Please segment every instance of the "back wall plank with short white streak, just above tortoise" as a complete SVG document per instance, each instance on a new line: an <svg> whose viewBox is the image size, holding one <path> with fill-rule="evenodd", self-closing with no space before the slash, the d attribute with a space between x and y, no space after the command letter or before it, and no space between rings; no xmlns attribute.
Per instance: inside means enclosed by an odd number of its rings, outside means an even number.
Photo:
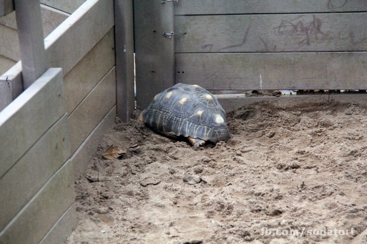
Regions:
<svg viewBox="0 0 367 244"><path fill-rule="evenodd" d="M182 53L175 57L176 83L209 90L367 89L366 52Z"/></svg>

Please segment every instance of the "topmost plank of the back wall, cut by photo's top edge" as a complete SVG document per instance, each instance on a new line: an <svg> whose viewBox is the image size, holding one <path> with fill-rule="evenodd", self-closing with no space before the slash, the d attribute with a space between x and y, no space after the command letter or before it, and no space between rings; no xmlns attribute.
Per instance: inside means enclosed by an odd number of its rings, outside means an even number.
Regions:
<svg viewBox="0 0 367 244"><path fill-rule="evenodd" d="M202 0L178 1L176 15L247 13L324 13L367 11L363 0Z"/></svg>

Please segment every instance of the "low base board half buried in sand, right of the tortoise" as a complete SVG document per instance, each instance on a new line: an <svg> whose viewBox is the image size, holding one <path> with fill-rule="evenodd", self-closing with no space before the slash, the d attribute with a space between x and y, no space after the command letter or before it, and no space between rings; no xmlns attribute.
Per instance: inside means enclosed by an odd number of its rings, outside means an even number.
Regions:
<svg viewBox="0 0 367 244"><path fill-rule="evenodd" d="M235 109L241 108L242 106L250 103L260 102L260 101L296 101L296 100L305 100L307 99L318 99L322 100L336 100L343 102L367 102L366 94L336 94L336 95L292 95L292 96L281 96L281 97L239 97L239 98L224 98L217 97L219 103L226 113L233 111Z"/></svg>

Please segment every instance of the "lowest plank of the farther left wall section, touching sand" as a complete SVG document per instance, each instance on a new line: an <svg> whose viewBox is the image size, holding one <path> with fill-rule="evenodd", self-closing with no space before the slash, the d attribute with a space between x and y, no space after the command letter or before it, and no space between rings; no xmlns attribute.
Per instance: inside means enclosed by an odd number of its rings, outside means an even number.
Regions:
<svg viewBox="0 0 367 244"><path fill-rule="evenodd" d="M71 156L70 160L74 162L75 180L85 176L89 160L94 156L99 142L103 138L104 132L106 132L108 128L112 128L115 124L115 118L116 106L113 106L110 112L103 117L99 124Z"/></svg>

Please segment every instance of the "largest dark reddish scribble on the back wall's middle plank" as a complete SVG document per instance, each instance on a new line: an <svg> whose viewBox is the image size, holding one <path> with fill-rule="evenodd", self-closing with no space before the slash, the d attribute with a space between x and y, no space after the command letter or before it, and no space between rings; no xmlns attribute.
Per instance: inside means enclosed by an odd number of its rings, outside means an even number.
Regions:
<svg viewBox="0 0 367 244"><path fill-rule="evenodd" d="M324 23L323 19L312 15L312 20L305 21L303 15L291 21L282 20L278 27L273 28L274 34L278 36L299 37L299 47L311 45L311 38L318 40L320 37L327 37L323 33L321 27Z"/></svg>

